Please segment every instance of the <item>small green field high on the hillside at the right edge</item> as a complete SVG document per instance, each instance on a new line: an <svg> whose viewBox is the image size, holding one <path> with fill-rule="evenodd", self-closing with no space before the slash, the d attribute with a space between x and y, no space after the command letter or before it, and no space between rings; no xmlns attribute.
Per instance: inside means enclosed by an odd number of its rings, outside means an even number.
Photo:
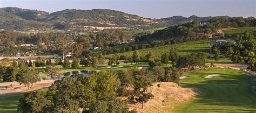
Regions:
<svg viewBox="0 0 256 113"><path fill-rule="evenodd" d="M237 34L244 33L246 31L255 31L256 27L239 27L237 29L231 29L231 30L224 30L223 32L225 33L225 36L228 37L234 37Z"/></svg>

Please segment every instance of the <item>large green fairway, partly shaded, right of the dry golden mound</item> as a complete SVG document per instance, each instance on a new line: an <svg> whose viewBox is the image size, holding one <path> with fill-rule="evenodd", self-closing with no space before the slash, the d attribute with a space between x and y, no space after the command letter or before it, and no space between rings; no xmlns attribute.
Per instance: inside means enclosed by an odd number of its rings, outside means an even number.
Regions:
<svg viewBox="0 0 256 113"><path fill-rule="evenodd" d="M206 79L210 74L220 77ZM196 87L202 92L192 101L180 103L173 112L256 112L256 95L248 93L247 75L238 70L214 68L183 74L180 86Z"/></svg>

